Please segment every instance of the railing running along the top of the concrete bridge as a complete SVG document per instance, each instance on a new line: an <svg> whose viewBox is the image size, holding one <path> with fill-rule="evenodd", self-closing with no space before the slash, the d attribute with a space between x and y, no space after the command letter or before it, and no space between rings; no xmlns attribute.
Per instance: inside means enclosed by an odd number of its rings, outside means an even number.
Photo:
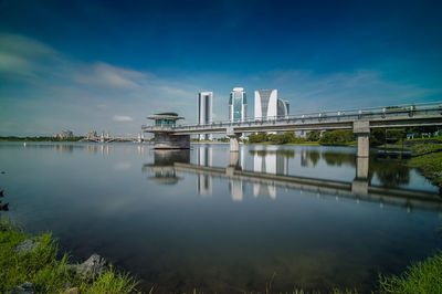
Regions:
<svg viewBox="0 0 442 294"><path fill-rule="evenodd" d="M287 123L325 123L325 122L346 122L366 118L386 118L394 116L423 115L423 114L442 114L442 102L403 104L394 106L377 106L365 108L352 108L341 111L313 112L304 114L292 114L285 116L273 117L253 117L239 122L220 120L210 124L180 124L176 126L158 126L143 125L144 130L152 132L173 132L173 130L192 130L192 129L215 129L232 126L271 126Z"/></svg>

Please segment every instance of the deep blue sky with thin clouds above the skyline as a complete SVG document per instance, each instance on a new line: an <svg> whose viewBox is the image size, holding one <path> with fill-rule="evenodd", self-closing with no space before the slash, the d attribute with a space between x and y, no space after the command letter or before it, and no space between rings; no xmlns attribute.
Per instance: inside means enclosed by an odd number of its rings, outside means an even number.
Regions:
<svg viewBox="0 0 442 294"><path fill-rule="evenodd" d="M291 113L442 101L441 1L0 0L0 136L136 135L213 91Z"/></svg>

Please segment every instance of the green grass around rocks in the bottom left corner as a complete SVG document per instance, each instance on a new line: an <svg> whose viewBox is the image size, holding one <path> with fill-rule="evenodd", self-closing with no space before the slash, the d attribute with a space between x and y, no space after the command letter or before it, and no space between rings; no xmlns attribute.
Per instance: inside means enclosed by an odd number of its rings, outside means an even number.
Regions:
<svg viewBox="0 0 442 294"><path fill-rule="evenodd" d="M39 242L30 252L19 253L17 245L27 239ZM56 240L51 233L30 237L9 220L0 220L0 293L24 282L33 283L39 293L63 293L78 287L82 293L129 293L138 282L112 266L92 281L78 277L69 264L69 255L59 260Z"/></svg>

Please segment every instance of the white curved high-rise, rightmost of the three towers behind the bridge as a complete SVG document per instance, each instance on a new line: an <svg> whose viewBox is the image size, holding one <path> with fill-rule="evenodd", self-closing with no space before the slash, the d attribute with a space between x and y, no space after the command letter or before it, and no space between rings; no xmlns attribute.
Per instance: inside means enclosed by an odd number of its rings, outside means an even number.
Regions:
<svg viewBox="0 0 442 294"><path fill-rule="evenodd" d="M255 91L255 119L275 119L288 113L290 104L277 97L277 90Z"/></svg>

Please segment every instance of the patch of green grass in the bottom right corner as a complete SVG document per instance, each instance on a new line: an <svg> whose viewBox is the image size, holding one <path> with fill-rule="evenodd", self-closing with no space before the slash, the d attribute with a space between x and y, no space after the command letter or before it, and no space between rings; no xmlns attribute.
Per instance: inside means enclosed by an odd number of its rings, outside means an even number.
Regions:
<svg viewBox="0 0 442 294"><path fill-rule="evenodd" d="M442 293L442 255L414 263L399 276L380 276L381 293Z"/></svg>

